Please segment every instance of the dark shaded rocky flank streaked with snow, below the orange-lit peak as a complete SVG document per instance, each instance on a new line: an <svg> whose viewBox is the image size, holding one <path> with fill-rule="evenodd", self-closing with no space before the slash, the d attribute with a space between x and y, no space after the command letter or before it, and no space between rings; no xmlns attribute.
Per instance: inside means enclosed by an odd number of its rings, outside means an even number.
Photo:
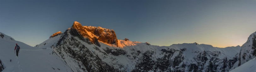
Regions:
<svg viewBox="0 0 256 72"><path fill-rule="evenodd" d="M119 69L115 69L113 66L102 61L98 54L91 51L91 48L98 50L98 46L95 46L88 38L80 36L76 30L73 28L67 29L58 43L52 47L53 52L57 53L75 72L119 71Z"/></svg>

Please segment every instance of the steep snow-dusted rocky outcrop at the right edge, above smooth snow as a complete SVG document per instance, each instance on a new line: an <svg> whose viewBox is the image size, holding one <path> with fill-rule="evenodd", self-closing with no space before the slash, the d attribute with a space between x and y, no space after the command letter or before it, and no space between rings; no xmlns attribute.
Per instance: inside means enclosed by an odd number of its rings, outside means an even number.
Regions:
<svg viewBox="0 0 256 72"><path fill-rule="evenodd" d="M256 32L252 33L241 46L238 66L256 57Z"/></svg>

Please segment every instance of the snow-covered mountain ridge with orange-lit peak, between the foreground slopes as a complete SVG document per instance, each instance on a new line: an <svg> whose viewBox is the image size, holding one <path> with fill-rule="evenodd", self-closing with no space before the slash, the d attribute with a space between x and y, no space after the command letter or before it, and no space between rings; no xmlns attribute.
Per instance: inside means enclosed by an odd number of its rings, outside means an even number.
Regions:
<svg viewBox="0 0 256 72"><path fill-rule="evenodd" d="M52 49L72 71L229 71L239 60L240 46L217 48L184 43L155 46L117 40L112 29L74 22L61 35L35 46Z"/></svg>

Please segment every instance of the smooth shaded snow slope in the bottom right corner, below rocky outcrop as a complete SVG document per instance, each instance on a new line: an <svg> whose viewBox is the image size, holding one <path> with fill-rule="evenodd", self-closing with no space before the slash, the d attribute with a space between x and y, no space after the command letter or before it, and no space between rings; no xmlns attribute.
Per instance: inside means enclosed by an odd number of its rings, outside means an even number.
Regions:
<svg viewBox="0 0 256 72"><path fill-rule="evenodd" d="M230 72L256 72L256 58L249 60Z"/></svg>

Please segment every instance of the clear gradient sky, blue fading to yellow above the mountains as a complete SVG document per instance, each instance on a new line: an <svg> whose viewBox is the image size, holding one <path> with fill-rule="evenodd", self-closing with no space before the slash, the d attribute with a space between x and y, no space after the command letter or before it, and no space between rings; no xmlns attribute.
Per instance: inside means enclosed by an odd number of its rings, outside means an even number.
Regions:
<svg viewBox="0 0 256 72"><path fill-rule="evenodd" d="M0 1L0 32L31 46L74 21L152 45L241 46L256 31L256 1Z"/></svg>

